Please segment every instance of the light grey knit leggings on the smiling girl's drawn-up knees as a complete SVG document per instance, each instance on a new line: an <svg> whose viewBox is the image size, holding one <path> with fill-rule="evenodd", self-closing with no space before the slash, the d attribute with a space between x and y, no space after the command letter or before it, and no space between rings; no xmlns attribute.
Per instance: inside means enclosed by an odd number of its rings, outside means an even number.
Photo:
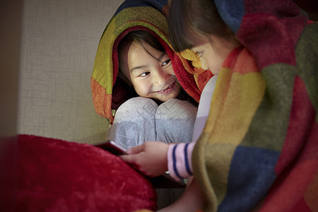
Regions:
<svg viewBox="0 0 318 212"><path fill-rule="evenodd" d="M197 108L184 100L172 99L157 105L150 98L131 98L116 111L107 139L124 148L146 141L189 143Z"/></svg>

